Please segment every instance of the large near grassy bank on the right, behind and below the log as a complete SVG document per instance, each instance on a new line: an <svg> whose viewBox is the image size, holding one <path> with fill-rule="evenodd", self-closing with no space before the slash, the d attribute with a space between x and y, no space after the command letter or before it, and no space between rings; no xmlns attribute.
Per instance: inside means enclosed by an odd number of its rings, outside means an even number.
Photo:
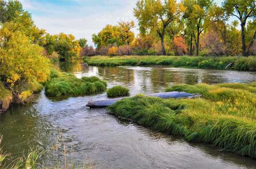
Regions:
<svg viewBox="0 0 256 169"><path fill-rule="evenodd" d="M199 92L197 99L138 95L108 109L116 116L236 154L256 158L256 83L180 84L166 91Z"/></svg>

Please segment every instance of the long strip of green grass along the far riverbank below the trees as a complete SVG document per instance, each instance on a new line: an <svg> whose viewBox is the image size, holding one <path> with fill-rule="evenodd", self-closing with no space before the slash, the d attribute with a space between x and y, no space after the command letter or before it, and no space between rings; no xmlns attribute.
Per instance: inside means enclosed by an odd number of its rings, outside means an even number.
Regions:
<svg viewBox="0 0 256 169"><path fill-rule="evenodd" d="M200 69L256 70L256 57L192 57L192 56L94 56L84 59L88 65L120 66L120 65L167 65L171 67L187 67Z"/></svg>

